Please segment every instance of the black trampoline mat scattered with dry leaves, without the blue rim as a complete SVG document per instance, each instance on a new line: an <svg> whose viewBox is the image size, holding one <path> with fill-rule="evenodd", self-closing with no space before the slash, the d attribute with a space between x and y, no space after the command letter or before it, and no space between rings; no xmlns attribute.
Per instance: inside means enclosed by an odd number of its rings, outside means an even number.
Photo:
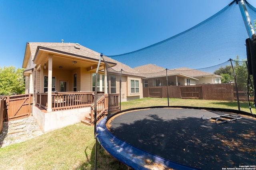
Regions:
<svg viewBox="0 0 256 170"><path fill-rule="evenodd" d="M201 117L234 113L154 108L128 111L108 122L124 142L162 158L202 169L239 168L256 163L256 119L216 124Z"/></svg>

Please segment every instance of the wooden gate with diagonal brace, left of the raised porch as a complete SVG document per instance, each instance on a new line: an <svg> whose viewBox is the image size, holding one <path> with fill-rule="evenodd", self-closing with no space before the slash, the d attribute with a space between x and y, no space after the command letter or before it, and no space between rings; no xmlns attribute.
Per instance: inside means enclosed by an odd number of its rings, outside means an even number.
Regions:
<svg viewBox="0 0 256 170"><path fill-rule="evenodd" d="M6 96L6 121L30 116L33 94Z"/></svg>

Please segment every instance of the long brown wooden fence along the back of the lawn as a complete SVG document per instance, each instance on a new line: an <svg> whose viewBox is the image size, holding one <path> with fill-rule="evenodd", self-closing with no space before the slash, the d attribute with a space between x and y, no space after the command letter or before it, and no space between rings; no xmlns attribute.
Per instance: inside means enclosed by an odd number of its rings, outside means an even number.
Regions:
<svg viewBox="0 0 256 170"><path fill-rule="evenodd" d="M169 98L236 101L234 84L203 84L192 86L168 86ZM239 99L247 101L246 92L238 87ZM143 97L167 98L167 87L144 87Z"/></svg>

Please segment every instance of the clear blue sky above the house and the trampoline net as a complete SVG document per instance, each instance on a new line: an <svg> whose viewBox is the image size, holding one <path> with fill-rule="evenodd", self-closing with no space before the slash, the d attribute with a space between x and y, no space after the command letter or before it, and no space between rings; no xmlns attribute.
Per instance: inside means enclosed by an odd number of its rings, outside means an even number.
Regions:
<svg viewBox="0 0 256 170"><path fill-rule="evenodd" d="M206 20L232 0L0 0L0 67L22 67L26 42L135 51ZM248 2L256 7L255 0Z"/></svg>

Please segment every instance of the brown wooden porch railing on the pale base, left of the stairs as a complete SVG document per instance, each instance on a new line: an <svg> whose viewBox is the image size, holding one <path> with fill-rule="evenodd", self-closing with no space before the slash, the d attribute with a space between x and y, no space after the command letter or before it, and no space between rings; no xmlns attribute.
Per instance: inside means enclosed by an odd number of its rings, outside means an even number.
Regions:
<svg viewBox="0 0 256 170"><path fill-rule="evenodd" d="M38 93L40 99L40 94ZM52 92L52 111L90 107L94 102L93 92ZM39 105L39 101L37 101ZM41 93L41 107L48 108L47 93Z"/></svg>

